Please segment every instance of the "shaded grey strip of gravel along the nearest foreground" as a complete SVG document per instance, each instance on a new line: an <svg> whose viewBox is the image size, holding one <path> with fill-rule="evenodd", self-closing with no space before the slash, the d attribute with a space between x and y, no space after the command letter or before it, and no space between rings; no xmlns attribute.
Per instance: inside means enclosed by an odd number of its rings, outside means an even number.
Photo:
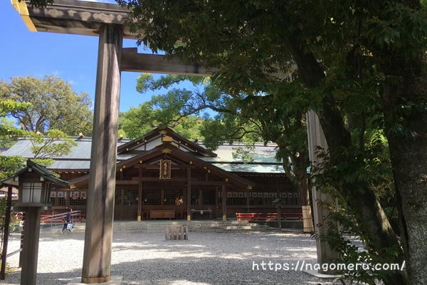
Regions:
<svg viewBox="0 0 427 285"><path fill-rule="evenodd" d="M21 271L8 274L0 284L13 284ZM80 270L38 274L40 285L65 285ZM302 271L252 271L251 263L236 259L145 259L143 261L112 264L111 274L123 276L122 285L299 285L319 284L319 281ZM18 275L18 276L14 276Z"/></svg>

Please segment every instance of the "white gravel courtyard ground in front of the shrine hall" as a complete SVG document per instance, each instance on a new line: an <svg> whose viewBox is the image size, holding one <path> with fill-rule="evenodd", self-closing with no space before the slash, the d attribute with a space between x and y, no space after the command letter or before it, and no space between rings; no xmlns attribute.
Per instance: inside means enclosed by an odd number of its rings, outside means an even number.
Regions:
<svg viewBox="0 0 427 285"><path fill-rule="evenodd" d="M302 271L253 271L253 262L315 263L315 241L297 232L190 233L189 241L166 242L164 234L117 234L112 245L112 275L132 285L326 284ZM41 237L38 282L68 284L80 276L83 234ZM12 239L9 252L19 247ZM19 254L8 259L18 266ZM260 268L261 269L261 268ZM19 284L21 271L0 284ZM330 281L329 281L330 284Z"/></svg>

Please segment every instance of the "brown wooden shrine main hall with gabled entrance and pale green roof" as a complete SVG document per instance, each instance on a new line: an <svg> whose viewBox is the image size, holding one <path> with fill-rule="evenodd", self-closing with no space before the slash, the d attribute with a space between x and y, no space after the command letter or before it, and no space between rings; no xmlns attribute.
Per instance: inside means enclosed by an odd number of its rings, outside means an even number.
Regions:
<svg viewBox="0 0 427 285"><path fill-rule="evenodd" d="M92 139L73 140L71 152L52 157L48 166L70 182L70 188L51 192L53 214L68 208L85 214ZM299 195L275 159L278 146L255 143L250 161L233 155L238 147L245 145L227 143L212 152L172 128L155 128L135 140L119 138L114 218L233 219L236 213L276 212L275 199L283 201L283 212L300 214ZM31 141L23 138L1 155L31 158L30 149Z"/></svg>

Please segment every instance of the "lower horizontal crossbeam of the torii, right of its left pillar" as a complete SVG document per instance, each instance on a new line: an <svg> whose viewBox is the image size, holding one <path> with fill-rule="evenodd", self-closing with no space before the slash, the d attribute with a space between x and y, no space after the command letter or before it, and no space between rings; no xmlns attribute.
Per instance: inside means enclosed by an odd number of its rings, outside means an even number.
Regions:
<svg viewBox="0 0 427 285"><path fill-rule="evenodd" d="M201 64L186 64L177 58L166 59L159 54L138 53L137 48L123 48L122 71L176 74L181 76L211 76Z"/></svg>

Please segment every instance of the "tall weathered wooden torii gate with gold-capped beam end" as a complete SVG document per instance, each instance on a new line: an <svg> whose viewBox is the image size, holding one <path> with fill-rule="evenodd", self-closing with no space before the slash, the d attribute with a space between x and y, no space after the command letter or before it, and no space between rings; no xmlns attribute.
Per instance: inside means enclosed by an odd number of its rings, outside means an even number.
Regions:
<svg viewBox="0 0 427 285"><path fill-rule="evenodd" d="M122 48L123 38L135 38L125 25L127 8L116 4L55 0L36 8L26 1L11 0L30 31L98 36L95 113L90 156L90 182L86 215L85 248L81 281L95 284L110 281L112 221L114 213L117 123L120 98L120 72L210 76L201 65L166 61L164 56L137 53L137 48ZM307 114L310 160L317 162L317 146L327 148L317 115ZM313 189L315 224L326 216L317 201L330 200ZM318 234L326 224L315 227ZM324 242L317 241L317 259L323 264L337 257Z"/></svg>

